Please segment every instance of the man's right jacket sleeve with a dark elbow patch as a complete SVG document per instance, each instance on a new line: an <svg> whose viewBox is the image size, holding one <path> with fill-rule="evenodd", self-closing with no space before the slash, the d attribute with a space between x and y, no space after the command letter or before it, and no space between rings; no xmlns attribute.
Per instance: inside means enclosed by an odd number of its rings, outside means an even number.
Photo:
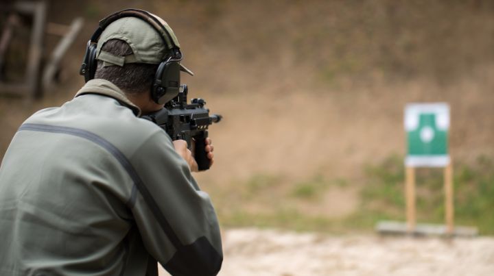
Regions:
<svg viewBox="0 0 494 276"><path fill-rule="evenodd" d="M146 249L169 273L216 275L223 257L215 210L185 158L164 131L139 147L131 158L142 182L132 213Z"/></svg>

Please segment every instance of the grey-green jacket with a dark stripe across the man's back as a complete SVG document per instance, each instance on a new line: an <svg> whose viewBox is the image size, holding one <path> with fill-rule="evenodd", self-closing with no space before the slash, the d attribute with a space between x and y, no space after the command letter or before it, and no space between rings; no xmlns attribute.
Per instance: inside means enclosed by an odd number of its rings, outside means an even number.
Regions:
<svg viewBox="0 0 494 276"><path fill-rule="evenodd" d="M156 275L154 260L172 275L217 274L209 196L139 112L94 79L21 125L0 167L0 275Z"/></svg>

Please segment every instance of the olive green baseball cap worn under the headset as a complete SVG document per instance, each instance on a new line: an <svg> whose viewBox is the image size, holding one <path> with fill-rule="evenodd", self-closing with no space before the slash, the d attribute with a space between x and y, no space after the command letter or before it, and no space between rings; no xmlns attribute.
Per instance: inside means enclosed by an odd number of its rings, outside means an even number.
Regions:
<svg viewBox="0 0 494 276"><path fill-rule="evenodd" d="M172 49L179 49L178 40L169 25L163 19L154 16L165 27L163 34L141 18L126 16L107 25L96 48L96 59L102 60L104 66L124 66L126 63L160 64ZM102 51L103 45L111 39L124 40L134 52L132 55L117 56ZM172 39L172 41L170 41ZM181 70L193 75L193 73L180 64Z"/></svg>

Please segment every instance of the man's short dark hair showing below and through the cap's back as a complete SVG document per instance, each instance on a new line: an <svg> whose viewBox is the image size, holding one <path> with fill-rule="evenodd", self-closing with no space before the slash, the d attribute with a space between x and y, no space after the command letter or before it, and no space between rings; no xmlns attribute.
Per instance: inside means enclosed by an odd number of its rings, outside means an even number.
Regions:
<svg viewBox="0 0 494 276"><path fill-rule="evenodd" d="M110 39L102 47L102 50L113 55L131 55L132 48L124 40ZM118 86L121 90L130 94L149 91L158 64L126 63L124 66L103 67L101 60L97 61L95 79L106 79Z"/></svg>

